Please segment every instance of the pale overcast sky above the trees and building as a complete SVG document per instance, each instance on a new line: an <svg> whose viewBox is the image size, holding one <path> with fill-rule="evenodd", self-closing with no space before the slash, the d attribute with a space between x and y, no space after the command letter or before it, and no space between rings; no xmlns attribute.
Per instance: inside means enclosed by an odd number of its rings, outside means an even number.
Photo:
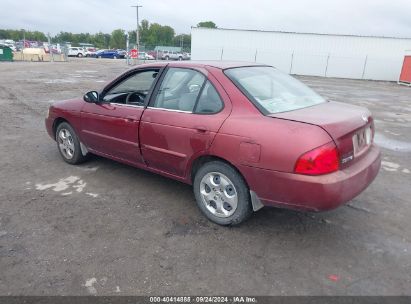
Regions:
<svg viewBox="0 0 411 304"><path fill-rule="evenodd" d="M0 0L0 28L52 35L136 28L140 20L190 33L200 21L220 28L411 38L411 0Z"/></svg>

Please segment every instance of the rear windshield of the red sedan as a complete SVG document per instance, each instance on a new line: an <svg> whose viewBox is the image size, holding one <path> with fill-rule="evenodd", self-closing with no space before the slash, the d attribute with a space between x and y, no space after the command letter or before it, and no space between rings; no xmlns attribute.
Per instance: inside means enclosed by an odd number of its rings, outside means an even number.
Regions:
<svg viewBox="0 0 411 304"><path fill-rule="evenodd" d="M326 102L297 79L272 67L232 68L224 73L265 115Z"/></svg>

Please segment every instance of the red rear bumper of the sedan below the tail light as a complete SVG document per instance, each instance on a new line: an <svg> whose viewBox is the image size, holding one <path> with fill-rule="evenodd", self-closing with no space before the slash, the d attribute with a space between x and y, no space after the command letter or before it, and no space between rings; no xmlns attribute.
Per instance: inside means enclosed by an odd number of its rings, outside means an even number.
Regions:
<svg viewBox="0 0 411 304"><path fill-rule="evenodd" d="M241 171L265 206L324 211L337 208L362 191L375 179L381 166L381 153L372 145L367 155L337 172L308 176L242 166Z"/></svg>

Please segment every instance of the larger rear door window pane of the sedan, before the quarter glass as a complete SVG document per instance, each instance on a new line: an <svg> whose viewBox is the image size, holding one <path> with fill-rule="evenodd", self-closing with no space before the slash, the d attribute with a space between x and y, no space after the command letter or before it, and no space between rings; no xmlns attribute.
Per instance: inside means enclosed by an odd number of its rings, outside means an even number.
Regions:
<svg viewBox="0 0 411 304"><path fill-rule="evenodd" d="M192 112L205 82L197 71L170 68L155 97L153 107Z"/></svg>

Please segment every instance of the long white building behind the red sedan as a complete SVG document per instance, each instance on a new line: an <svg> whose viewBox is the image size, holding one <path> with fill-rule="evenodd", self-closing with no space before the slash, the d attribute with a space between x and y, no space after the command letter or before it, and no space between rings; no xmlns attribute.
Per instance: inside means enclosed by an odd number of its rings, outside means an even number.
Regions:
<svg viewBox="0 0 411 304"><path fill-rule="evenodd" d="M297 75L397 81L411 38L192 28L193 60L270 64Z"/></svg>

